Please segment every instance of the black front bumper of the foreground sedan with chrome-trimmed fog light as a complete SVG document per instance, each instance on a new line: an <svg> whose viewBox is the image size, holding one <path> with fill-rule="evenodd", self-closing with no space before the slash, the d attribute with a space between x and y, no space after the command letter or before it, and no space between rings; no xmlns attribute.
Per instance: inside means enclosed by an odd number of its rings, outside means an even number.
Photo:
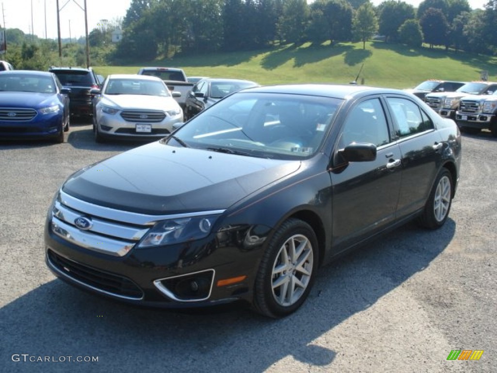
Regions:
<svg viewBox="0 0 497 373"><path fill-rule="evenodd" d="M45 225L46 263L60 279L128 303L191 308L251 302L263 240L249 226L212 233L203 240L131 248L109 255L68 241ZM233 280L235 279L235 280Z"/></svg>

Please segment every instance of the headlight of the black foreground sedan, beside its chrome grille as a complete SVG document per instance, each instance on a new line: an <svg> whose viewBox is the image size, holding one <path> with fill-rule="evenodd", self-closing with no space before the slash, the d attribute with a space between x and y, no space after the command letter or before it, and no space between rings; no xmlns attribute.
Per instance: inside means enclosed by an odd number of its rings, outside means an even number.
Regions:
<svg viewBox="0 0 497 373"><path fill-rule="evenodd" d="M158 222L138 247L171 245L206 237L219 215L182 217Z"/></svg>

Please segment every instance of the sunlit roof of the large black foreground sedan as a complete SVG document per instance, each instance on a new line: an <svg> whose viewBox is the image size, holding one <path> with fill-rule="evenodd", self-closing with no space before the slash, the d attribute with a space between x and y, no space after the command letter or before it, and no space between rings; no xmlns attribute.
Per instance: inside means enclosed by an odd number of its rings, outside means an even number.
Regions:
<svg viewBox="0 0 497 373"><path fill-rule="evenodd" d="M381 94L381 93L395 93L402 95L409 95L402 90L395 90L390 88L379 88L369 86L359 86L355 84L288 84L288 85L275 85L275 86L262 86L252 87L245 89L243 92L261 92L261 93L289 93L289 94L304 94L304 95L317 95L333 98L346 98L348 96L359 94Z"/></svg>

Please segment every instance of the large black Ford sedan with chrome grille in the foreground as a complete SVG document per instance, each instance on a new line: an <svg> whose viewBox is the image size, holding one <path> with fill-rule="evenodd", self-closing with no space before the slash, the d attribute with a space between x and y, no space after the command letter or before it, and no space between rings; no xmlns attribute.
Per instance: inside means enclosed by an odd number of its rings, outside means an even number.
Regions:
<svg viewBox="0 0 497 373"><path fill-rule="evenodd" d="M72 175L49 209L46 262L134 304L241 301L282 317L339 254L411 219L440 228L460 163L455 123L410 93L251 88Z"/></svg>

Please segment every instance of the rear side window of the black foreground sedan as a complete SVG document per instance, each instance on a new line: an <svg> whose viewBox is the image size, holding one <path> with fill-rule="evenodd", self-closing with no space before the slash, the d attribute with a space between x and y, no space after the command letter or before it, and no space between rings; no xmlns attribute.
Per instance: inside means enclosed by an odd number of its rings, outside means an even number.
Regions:
<svg viewBox="0 0 497 373"><path fill-rule="evenodd" d="M389 97L387 102L397 122L396 132L399 137L411 136L434 128L429 116L423 113L413 101Z"/></svg>

